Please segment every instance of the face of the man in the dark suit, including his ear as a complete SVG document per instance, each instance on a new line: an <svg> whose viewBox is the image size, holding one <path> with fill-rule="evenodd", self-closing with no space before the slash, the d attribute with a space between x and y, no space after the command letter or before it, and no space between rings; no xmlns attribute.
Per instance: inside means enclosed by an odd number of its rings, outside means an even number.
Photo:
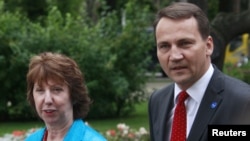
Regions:
<svg viewBox="0 0 250 141"><path fill-rule="evenodd" d="M197 21L162 18L155 30L157 56L162 69L181 89L192 86L208 69L212 37L202 39Z"/></svg>

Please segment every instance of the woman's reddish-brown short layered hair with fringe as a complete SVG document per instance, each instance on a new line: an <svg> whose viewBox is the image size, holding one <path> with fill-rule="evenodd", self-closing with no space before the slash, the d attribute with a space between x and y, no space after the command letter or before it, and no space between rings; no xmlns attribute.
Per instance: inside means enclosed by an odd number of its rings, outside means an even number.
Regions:
<svg viewBox="0 0 250 141"><path fill-rule="evenodd" d="M73 104L73 117L84 118L89 112L91 100L85 85L84 76L77 63L59 53L44 52L30 59L27 79L27 100L35 109L33 97L34 84L47 83L53 80L69 87L70 99Z"/></svg>

